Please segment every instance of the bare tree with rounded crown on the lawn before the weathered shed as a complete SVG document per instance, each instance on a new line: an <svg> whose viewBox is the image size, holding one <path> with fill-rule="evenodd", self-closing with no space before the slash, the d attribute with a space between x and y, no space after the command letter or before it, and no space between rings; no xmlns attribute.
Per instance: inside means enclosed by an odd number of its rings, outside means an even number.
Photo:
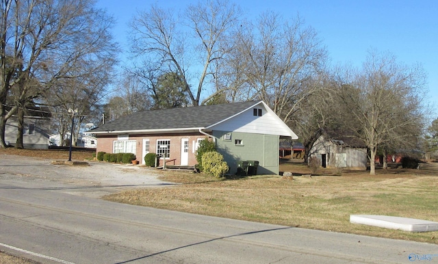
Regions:
<svg viewBox="0 0 438 264"><path fill-rule="evenodd" d="M339 89L344 126L368 147L370 174L378 147L407 146L423 126L424 72L372 51L355 80ZM411 141L411 142L409 142ZM416 142L415 142L416 143Z"/></svg>

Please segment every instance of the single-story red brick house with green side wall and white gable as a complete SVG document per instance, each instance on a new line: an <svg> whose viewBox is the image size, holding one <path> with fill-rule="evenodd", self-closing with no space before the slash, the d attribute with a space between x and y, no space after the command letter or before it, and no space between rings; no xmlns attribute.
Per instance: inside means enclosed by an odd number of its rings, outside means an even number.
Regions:
<svg viewBox="0 0 438 264"><path fill-rule="evenodd" d="M87 131L97 138L96 152L147 153L169 165L194 166L198 142L216 142L230 168L259 161L257 174L279 174L279 140L296 134L263 101L139 111ZM163 159L163 158L162 158Z"/></svg>

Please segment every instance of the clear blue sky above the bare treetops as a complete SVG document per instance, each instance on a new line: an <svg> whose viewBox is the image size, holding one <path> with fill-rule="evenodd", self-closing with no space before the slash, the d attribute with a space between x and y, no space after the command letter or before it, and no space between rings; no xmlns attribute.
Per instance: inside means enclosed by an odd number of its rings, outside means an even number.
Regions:
<svg viewBox="0 0 438 264"><path fill-rule="evenodd" d="M151 4L183 10L197 0L99 0L97 6L107 10L117 23L116 41L126 52L127 23L140 10ZM235 1L246 17L255 17L266 10L292 18L299 14L313 27L329 51L332 64L360 66L370 49L389 51L398 62L422 64L428 75L428 98L435 111L438 108L438 1L296 1L242 0ZM121 54L124 60L126 55Z"/></svg>

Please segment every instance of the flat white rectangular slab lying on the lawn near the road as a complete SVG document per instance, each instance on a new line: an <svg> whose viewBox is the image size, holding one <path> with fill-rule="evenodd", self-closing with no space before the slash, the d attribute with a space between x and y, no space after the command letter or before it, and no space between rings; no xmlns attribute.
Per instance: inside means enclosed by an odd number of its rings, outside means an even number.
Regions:
<svg viewBox="0 0 438 264"><path fill-rule="evenodd" d="M438 222L387 215L350 215L350 222L354 224L367 224L368 226L378 226L409 232L429 232L438 230Z"/></svg>

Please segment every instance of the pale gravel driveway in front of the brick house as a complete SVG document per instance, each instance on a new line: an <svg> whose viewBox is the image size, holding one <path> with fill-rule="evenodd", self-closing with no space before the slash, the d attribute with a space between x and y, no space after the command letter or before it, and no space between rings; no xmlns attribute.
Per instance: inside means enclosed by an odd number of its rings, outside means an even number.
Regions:
<svg viewBox="0 0 438 264"><path fill-rule="evenodd" d="M55 165L51 160L0 155L0 180L40 182L72 194L98 198L123 189L167 186L154 169L132 164L90 161L88 166Z"/></svg>

